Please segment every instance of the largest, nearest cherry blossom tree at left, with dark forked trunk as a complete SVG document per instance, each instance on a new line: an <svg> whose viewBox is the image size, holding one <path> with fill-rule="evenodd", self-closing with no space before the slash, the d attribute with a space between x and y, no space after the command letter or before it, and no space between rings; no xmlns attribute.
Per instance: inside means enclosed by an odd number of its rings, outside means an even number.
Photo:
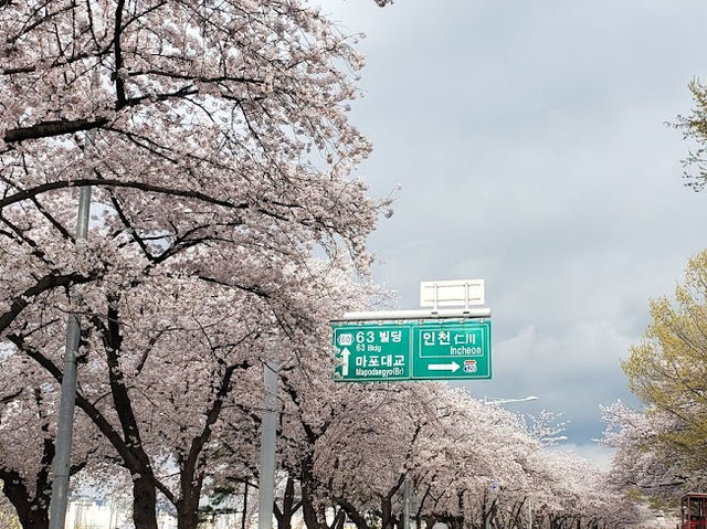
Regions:
<svg viewBox="0 0 707 529"><path fill-rule="evenodd" d="M133 476L136 527L157 490L193 527L234 381L306 342L314 247L369 264L388 204L350 177L362 59L284 0L10 1L0 34L0 338L61 380L63 315L82 313L77 405Z"/></svg>

